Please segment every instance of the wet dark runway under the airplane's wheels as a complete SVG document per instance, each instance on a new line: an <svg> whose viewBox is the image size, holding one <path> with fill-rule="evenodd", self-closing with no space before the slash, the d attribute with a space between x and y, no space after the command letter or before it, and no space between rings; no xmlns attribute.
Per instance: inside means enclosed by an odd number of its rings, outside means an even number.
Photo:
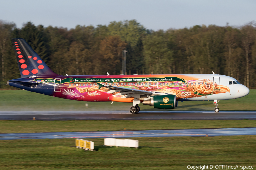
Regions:
<svg viewBox="0 0 256 170"><path fill-rule="evenodd" d="M256 120L256 111L127 111L0 112L0 120Z"/></svg>

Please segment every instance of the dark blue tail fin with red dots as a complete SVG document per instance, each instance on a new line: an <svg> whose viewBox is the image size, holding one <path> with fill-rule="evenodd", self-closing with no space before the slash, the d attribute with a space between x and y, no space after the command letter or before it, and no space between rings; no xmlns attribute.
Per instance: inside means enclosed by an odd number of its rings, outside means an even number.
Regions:
<svg viewBox="0 0 256 170"><path fill-rule="evenodd" d="M30 76L59 76L51 71L24 39L12 39L21 78Z"/></svg>

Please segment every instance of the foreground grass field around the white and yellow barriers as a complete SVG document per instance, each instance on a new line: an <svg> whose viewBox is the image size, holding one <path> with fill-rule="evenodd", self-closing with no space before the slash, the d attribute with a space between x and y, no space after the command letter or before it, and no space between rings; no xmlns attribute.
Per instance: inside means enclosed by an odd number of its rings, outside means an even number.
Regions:
<svg viewBox="0 0 256 170"><path fill-rule="evenodd" d="M187 165L256 166L256 136L152 137L139 148L105 147L97 152L75 147L75 139L0 140L0 169L187 169ZM214 169L214 168L213 168Z"/></svg>

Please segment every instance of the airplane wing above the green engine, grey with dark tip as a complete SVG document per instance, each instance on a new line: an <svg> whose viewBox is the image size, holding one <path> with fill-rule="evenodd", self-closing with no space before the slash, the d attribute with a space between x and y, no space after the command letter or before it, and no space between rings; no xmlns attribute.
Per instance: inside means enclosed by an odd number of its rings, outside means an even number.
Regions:
<svg viewBox="0 0 256 170"><path fill-rule="evenodd" d="M106 87L110 91L107 93L115 93L119 92L115 95L124 95L121 98L128 98L128 97L134 97L134 98L140 98L141 95L164 95L165 93L157 93L157 92L151 92L151 91L145 91L145 90L137 90L132 88L124 88L124 87L117 87L117 86L104 86L103 84L97 83L99 85L99 88Z"/></svg>

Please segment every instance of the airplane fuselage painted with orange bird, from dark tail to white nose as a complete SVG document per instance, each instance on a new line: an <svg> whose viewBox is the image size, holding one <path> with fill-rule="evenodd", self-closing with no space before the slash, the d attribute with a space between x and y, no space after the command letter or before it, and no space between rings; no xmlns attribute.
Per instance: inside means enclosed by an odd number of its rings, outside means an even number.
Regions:
<svg viewBox="0 0 256 170"><path fill-rule="evenodd" d="M28 84L22 83L28 82ZM230 83L231 82L231 83ZM229 76L214 74L190 75L93 75L30 77L9 80L10 86L50 96L79 101L132 102L107 93L105 86L176 95L177 101L227 100L243 97L248 88ZM144 98L148 96L143 96Z"/></svg>

